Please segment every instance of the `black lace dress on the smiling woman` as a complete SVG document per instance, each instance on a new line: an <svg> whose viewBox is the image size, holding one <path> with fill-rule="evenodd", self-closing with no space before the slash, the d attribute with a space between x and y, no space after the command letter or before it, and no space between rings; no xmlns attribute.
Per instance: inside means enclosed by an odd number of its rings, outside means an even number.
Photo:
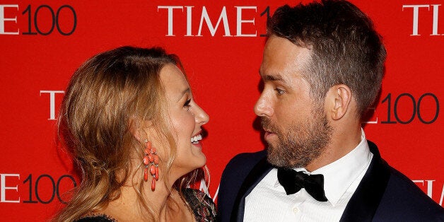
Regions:
<svg viewBox="0 0 444 222"><path fill-rule="evenodd" d="M204 192L198 189L186 188L182 190L185 201L191 207L197 222L216 221L216 205ZM117 221L110 216L99 214L80 218L78 222L113 222Z"/></svg>

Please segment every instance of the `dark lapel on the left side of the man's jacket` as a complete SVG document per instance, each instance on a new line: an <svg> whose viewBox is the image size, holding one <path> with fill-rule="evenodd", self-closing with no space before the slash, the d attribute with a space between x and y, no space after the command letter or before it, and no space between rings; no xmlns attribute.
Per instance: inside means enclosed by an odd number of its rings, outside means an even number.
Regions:
<svg viewBox="0 0 444 222"><path fill-rule="evenodd" d="M262 178L273 168L268 162L267 157L262 158L255 165L250 173L245 177L243 184L240 186L238 196L233 204L230 221L243 221L245 211L245 197L256 187Z"/></svg>

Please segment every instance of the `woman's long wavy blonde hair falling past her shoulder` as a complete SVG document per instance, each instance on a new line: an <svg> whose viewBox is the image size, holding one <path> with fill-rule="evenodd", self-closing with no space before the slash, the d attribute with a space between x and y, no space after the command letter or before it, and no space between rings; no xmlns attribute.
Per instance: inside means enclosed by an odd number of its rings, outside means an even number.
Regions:
<svg viewBox="0 0 444 222"><path fill-rule="evenodd" d="M54 221L74 221L105 208L119 198L120 188L132 178L140 178L134 189L141 210L156 220L142 195L143 175L139 172L143 170L134 170L143 164L134 166L131 161L134 153L142 160L144 144L135 139L130 128L134 119L149 121L162 141L168 141L164 145L169 150L167 159L160 159L159 166L163 175L168 175L177 147L159 75L166 64L180 66L183 71L179 59L161 48L126 46L97 54L75 71L59 112L58 130L60 141L78 166L81 183ZM175 184L189 185L187 178Z"/></svg>

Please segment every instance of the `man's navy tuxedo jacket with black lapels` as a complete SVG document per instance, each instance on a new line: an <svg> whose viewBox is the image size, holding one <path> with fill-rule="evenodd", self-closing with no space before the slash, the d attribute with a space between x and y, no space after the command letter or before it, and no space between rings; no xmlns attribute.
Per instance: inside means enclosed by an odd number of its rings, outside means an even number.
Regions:
<svg viewBox="0 0 444 222"><path fill-rule="evenodd" d="M444 209L414 182L382 160L378 147L347 204L341 221L444 221ZM267 153L240 153L223 170L218 193L218 220L243 221L245 197L273 168Z"/></svg>

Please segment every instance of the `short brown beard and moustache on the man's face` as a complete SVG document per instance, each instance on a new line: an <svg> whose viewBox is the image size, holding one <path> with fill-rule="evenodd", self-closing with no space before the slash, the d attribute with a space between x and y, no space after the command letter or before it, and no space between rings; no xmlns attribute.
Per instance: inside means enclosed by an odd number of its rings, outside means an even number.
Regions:
<svg viewBox="0 0 444 222"><path fill-rule="evenodd" d="M292 122L281 130L262 117L262 127L278 136L274 143L268 143L267 160L271 165L285 168L305 168L320 157L330 142L332 127L323 112L315 111L312 119Z"/></svg>

